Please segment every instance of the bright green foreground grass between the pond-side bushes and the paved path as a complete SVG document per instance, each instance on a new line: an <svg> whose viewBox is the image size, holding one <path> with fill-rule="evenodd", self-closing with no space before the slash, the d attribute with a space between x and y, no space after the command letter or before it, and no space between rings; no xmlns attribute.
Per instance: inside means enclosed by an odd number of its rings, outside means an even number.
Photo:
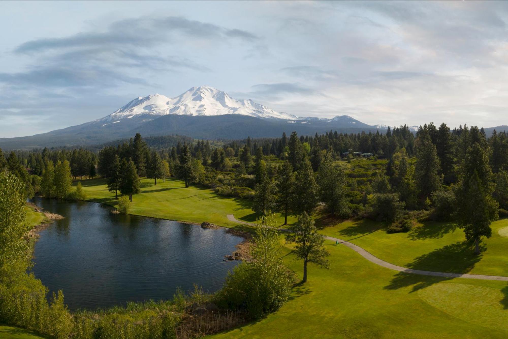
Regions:
<svg viewBox="0 0 508 339"><path fill-rule="evenodd" d="M295 288L291 300L278 312L215 336L503 338L508 335L505 282L398 273L366 261L345 246L328 243L327 248L332 253L330 270L309 266L307 283ZM291 254L284 257L301 277L302 263L293 259ZM480 301L486 295L488 300ZM461 307L469 309L460 311ZM484 319L489 321L483 322Z"/></svg>

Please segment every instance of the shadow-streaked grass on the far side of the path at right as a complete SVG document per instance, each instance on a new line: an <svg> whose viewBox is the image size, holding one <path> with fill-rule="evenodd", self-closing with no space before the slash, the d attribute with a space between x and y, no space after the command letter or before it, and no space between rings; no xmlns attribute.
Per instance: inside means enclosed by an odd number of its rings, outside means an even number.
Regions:
<svg viewBox="0 0 508 339"><path fill-rule="evenodd" d="M348 220L320 232L350 241L379 259L403 267L508 276L508 238L498 234L498 229L506 226L508 219L492 223L492 237L483 238L480 256L473 254L472 247L465 243L464 232L453 223L425 222L408 233L388 234L379 222Z"/></svg>

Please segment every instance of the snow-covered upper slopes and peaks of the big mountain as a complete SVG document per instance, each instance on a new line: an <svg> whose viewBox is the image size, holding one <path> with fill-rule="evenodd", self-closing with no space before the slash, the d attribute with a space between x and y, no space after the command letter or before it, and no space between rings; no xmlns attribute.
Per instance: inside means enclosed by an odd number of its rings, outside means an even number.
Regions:
<svg viewBox="0 0 508 339"><path fill-rule="evenodd" d="M226 92L209 86L200 86L190 88L175 98L168 98L161 94L136 98L98 121L115 123L133 117L152 120L156 118L155 116L168 114L185 116L239 114L255 118L297 119L296 116L277 112L250 99L236 100Z"/></svg>

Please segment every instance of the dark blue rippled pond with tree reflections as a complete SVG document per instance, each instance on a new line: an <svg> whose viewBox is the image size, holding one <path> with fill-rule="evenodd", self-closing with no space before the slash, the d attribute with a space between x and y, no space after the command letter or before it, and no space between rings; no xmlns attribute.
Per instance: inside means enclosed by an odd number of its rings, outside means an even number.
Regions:
<svg viewBox="0 0 508 339"><path fill-rule="evenodd" d="M33 202L66 217L40 233L33 271L50 293L63 290L70 309L170 299L193 283L216 291L237 264L223 259L242 239L225 229L112 214L97 203Z"/></svg>

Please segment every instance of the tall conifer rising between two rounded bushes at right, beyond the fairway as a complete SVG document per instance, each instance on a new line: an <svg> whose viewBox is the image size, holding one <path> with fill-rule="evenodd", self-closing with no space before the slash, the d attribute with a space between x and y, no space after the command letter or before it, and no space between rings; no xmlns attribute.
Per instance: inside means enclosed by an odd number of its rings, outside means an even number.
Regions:
<svg viewBox="0 0 508 339"><path fill-rule="evenodd" d="M436 147L432 144L428 133L420 133L416 142L415 179L420 197L425 199L441 185L439 177L439 158Z"/></svg>

